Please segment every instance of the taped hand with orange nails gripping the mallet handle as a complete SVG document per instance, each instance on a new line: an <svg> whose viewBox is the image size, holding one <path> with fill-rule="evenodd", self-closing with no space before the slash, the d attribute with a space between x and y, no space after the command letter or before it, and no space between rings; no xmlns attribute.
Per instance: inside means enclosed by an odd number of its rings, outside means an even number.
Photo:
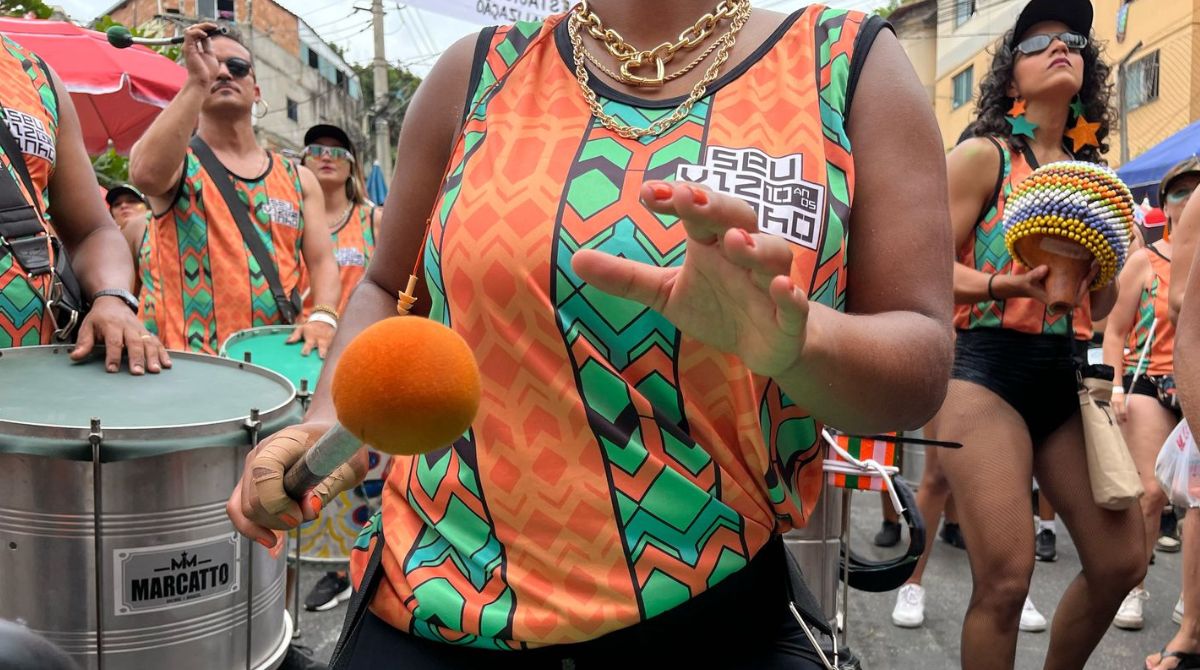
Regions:
<svg viewBox="0 0 1200 670"><path fill-rule="evenodd" d="M284 429L265 439L246 456L241 480L234 487L226 513L238 532L274 549L281 531L289 531L320 514L329 501L356 486L367 474L367 450L359 451L326 477L301 501L283 490L283 473L330 429L328 423L306 423Z"/></svg>

